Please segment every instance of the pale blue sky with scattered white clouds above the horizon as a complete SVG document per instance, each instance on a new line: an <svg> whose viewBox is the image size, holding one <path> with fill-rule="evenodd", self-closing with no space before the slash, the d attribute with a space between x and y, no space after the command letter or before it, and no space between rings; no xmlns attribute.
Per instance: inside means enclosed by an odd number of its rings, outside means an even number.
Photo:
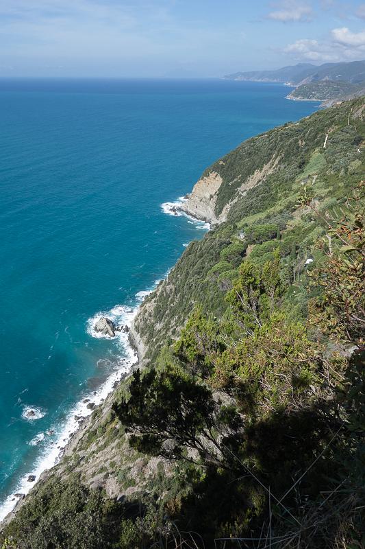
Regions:
<svg viewBox="0 0 365 549"><path fill-rule="evenodd" d="M355 0L0 0L0 76L220 77L365 59Z"/></svg>

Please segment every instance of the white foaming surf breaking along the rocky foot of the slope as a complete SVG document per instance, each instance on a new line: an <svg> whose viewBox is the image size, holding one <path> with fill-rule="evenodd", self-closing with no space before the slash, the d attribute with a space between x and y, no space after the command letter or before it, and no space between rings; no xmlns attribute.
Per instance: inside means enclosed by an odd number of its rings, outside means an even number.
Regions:
<svg viewBox="0 0 365 549"><path fill-rule="evenodd" d="M186 211L179 209L179 205L184 203L185 197L180 197L176 202L164 202L161 205L161 209L167 215L181 216L188 218L188 223L192 223L196 226L196 229L203 229L208 231L210 224L205 220L195 218L193 215L189 215ZM186 244L184 244L184 247ZM142 290L136 294L136 305L133 307L127 307L125 305L116 305L109 312L99 312L88 319L86 323L86 331L91 337L116 339L120 338L123 343L123 349L125 356L121 357L121 361L118 369L108 375L105 382L97 390L90 391L90 393L83 395L82 399L75 403L75 406L68 412L68 416L62 425L62 429L55 441L51 442L46 447L45 452L36 460L34 467L31 471L27 472L21 480L16 484L16 489L2 502L0 507L0 530L2 526L8 524L12 517L21 508L27 496L32 493L32 489L36 487L38 482L45 480L49 476L53 467L58 465L64 456L71 454L74 445L79 438L84 434L85 430L92 419L92 412L105 406L108 401L112 401L115 390L119 384L126 379L131 372L143 363L144 358L144 343L140 338L138 331L135 328L134 320L138 316L140 307L144 303L144 299L149 296L158 287L159 283L166 279L170 269L164 274L162 279L156 280L153 283L152 288L149 290ZM118 336L115 338L109 338L108 336L102 336L93 331L93 326L97 321L97 318L101 316L112 316L113 314L123 314L123 324L128 327L127 333L118 332ZM34 477L34 480L30 482L28 479Z"/></svg>

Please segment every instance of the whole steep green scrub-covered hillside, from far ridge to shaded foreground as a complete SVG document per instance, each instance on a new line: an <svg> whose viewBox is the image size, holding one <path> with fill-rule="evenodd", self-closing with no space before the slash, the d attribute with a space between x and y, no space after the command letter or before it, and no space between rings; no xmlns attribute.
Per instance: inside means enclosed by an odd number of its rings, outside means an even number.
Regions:
<svg viewBox="0 0 365 549"><path fill-rule="evenodd" d="M364 98L344 103L205 171L218 224L136 317L144 373L93 412L8 546L361 547L364 118Z"/></svg>

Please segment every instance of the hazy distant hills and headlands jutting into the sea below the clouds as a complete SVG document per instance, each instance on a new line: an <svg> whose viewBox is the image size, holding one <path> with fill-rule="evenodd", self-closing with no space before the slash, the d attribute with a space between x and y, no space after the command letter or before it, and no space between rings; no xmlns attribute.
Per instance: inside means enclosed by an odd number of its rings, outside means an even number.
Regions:
<svg viewBox="0 0 365 549"><path fill-rule="evenodd" d="M365 61L298 65L274 71L249 71L225 75L225 80L280 82L296 88L288 99L333 102L359 95L365 88Z"/></svg>

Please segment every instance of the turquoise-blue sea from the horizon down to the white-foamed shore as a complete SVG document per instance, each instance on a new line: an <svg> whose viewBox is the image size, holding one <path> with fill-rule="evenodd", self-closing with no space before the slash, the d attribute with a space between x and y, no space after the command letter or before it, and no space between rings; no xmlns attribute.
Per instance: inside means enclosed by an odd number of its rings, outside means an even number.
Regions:
<svg viewBox="0 0 365 549"><path fill-rule="evenodd" d="M134 356L96 338L203 236L165 215L238 143L309 115L277 84L0 80L0 518ZM31 413L31 417L29 416Z"/></svg>

